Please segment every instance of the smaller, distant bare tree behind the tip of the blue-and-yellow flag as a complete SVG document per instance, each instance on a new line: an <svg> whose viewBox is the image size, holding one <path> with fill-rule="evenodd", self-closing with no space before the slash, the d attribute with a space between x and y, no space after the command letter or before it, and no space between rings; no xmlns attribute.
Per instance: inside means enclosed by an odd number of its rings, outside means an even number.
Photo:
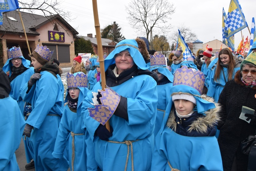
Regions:
<svg viewBox="0 0 256 171"><path fill-rule="evenodd" d="M178 27L178 29L180 30L181 35L182 35L182 37L184 38L184 40L185 40L186 43L192 43L192 42L194 42L195 40L197 40L197 35L196 35L196 33L195 33L195 32L192 32L189 27L186 27L186 26L184 26L184 25L181 25L181 26ZM172 41L173 43L176 43L177 40L178 40L178 37L179 37L179 31L178 31L178 29L177 29L176 31L174 31L174 32L171 34L171 38L170 38L170 39L171 39L171 41Z"/></svg>

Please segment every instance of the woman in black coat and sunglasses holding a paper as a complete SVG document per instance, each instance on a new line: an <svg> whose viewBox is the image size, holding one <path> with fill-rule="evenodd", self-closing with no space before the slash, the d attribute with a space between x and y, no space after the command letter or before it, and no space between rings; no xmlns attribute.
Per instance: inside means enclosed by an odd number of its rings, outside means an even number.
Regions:
<svg viewBox="0 0 256 171"><path fill-rule="evenodd" d="M218 143L225 170L247 170L248 156L241 152L241 141L255 133L255 114L250 123L239 118L242 106L256 111L256 54L251 53L241 64L234 80L227 82L219 96L222 105L218 122ZM248 114L250 115L250 114ZM247 115L245 115L247 116Z"/></svg>

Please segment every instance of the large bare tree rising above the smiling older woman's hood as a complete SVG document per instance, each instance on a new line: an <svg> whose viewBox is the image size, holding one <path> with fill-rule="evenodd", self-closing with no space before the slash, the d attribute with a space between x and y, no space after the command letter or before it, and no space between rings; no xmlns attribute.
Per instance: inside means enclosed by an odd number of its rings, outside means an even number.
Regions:
<svg viewBox="0 0 256 171"><path fill-rule="evenodd" d="M146 34L147 39L153 28L159 28L162 32L171 28L168 21L174 10L174 5L168 0L132 0L126 6L130 25Z"/></svg>

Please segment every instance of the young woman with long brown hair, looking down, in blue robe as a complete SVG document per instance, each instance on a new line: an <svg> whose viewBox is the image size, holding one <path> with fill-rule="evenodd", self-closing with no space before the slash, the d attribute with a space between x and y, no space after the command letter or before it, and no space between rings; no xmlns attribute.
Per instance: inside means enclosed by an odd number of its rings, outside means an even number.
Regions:
<svg viewBox="0 0 256 171"><path fill-rule="evenodd" d="M227 81L234 79L234 75L240 70L241 62L233 57L228 48L219 51L217 66L210 77L207 96L213 97L217 102Z"/></svg>

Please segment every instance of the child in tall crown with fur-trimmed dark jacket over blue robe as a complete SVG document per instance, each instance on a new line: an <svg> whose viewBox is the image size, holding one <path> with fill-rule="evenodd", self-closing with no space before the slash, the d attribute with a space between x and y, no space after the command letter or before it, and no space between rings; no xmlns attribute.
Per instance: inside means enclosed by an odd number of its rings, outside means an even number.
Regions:
<svg viewBox="0 0 256 171"><path fill-rule="evenodd" d="M201 95L203 86L202 72L186 66L175 71L151 170L223 170L215 137L219 106Z"/></svg>

